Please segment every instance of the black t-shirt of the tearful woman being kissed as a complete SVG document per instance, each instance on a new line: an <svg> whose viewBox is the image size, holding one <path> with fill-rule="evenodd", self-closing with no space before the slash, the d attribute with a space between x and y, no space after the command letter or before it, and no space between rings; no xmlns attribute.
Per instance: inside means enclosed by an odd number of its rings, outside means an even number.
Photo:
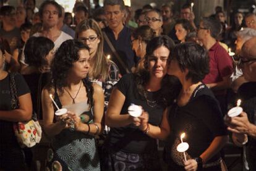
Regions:
<svg viewBox="0 0 256 171"><path fill-rule="evenodd" d="M149 106L145 98L139 98L139 96L135 95L135 93L137 93L135 88L135 75L124 75L118 81L116 86L117 89L126 96L126 100L121 109L121 115L128 114L127 109L130 104L133 103L142 106L144 111L148 112L148 123L152 125L160 125L164 107L160 106L160 104L155 104L154 107L150 107L152 104ZM159 91L147 92L147 99L154 101L154 97L158 93ZM111 128L107 140L105 141L105 146L107 149L113 151L131 153L157 152L156 140L143 133L143 131L133 124L127 125L126 127Z"/></svg>

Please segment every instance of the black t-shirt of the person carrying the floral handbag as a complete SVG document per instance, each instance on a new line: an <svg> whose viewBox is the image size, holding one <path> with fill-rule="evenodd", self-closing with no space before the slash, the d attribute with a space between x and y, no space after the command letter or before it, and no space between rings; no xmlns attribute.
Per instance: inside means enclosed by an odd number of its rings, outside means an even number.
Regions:
<svg viewBox="0 0 256 171"><path fill-rule="evenodd" d="M30 93L27 83L22 75L15 75L15 85L17 96ZM10 93L10 74L6 78L0 80L0 110L11 111L11 93ZM0 148L6 146L18 145L12 128L13 122L0 120Z"/></svg>

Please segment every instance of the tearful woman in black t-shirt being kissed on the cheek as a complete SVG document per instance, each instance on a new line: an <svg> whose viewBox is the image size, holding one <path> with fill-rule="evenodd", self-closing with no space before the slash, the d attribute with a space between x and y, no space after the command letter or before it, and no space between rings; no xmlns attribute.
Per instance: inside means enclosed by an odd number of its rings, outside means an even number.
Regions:
<svg viewBox="0 0 256 171"><path fill-rule="evenodd" d="M179 91L177 79L170 85L166 75L173 47L168 36L153 38L147 46L144 69L124 75L114 88L106 115L111 130L104 144L103 170L161 170L156 138L169 134L167 106ZM130 104L143 108L140 117L128 114Z"/></svg>

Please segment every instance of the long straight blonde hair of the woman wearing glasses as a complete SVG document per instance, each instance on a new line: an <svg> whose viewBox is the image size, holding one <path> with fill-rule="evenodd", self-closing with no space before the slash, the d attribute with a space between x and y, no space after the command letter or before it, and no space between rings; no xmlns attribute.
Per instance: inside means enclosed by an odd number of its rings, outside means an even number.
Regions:
<svg viewBox="0 0 256 171"><path fill-rule="evenodd" d="M94 30L96 35L98 36L98 39L100 40L100 43L98 44L98 49L96 49L95 56L93 56L90 60L90 77L92 77L93 79L101 79L101 81L105 81L106 78L109 77L108 62L103 54L104 39L98 23L93 19L83 20L79 23L79 25L77 25L77 28L75 29L75 38L78 39L79 33L89 29Z"/></svg>

